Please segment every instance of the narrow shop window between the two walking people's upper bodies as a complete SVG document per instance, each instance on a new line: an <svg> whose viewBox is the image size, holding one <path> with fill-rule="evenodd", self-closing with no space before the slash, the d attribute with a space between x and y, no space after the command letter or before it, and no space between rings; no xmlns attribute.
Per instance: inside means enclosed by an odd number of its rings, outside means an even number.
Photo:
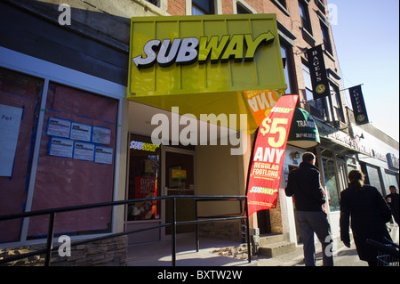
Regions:
<svg viewBox="0 0 400 284"><path fill-rule="evenodd" d="M323 158L325 187L331 211L339 211L339 190L336 183L336 170L332 158Z"/></svg>

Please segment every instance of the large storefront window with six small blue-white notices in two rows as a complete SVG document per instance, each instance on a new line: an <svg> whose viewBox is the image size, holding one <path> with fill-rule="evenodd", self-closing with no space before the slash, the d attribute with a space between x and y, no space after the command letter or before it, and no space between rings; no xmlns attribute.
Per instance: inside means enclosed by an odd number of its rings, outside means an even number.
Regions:
<svg viewBox="0 0 400 284"><path fill-rule="evenodd" d="M50 83L32 210L113 200L118 101ZM60 213L55 233L111 230L111 207ZM48 216L29 218L28 239L43 238Z"/></svg>

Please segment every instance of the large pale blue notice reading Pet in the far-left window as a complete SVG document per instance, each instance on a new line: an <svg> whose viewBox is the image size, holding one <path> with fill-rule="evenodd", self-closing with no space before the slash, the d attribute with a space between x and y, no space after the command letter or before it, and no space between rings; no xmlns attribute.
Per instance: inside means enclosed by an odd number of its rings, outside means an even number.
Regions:
<svg viewBox="0 0 400 284"><path fill-rule="evenodd" d="M12 176L22 109L0 104L0 176Z"/></svg>

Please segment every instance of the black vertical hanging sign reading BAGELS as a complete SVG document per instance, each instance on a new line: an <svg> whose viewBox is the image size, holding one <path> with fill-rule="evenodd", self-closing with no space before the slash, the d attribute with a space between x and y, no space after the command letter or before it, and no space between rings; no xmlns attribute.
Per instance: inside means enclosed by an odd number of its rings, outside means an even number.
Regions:
<svg viewBox="0 0 400 284"><path fill-rule="evenodd" d="M313 85L314 100L331 95L328 77L326 76L322 45L316 45L308 49L307 57L311 84Z"/></svg>

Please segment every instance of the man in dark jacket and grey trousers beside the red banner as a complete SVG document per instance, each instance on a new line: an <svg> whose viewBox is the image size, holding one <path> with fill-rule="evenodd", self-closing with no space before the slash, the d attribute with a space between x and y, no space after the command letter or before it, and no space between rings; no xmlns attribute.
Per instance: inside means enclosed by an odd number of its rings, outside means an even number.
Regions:
<svg viewBox="0 0 400 284"><path fill-rule="evenodd" d="M303 242L306 266L316 265L314 233L323 246L324 266L332 266L331 226L324 212L325 194L315 162L316 156L311 152L305 152L300 167L289 173L284 191L286 196L294 197L296 220Z"/></svg>

